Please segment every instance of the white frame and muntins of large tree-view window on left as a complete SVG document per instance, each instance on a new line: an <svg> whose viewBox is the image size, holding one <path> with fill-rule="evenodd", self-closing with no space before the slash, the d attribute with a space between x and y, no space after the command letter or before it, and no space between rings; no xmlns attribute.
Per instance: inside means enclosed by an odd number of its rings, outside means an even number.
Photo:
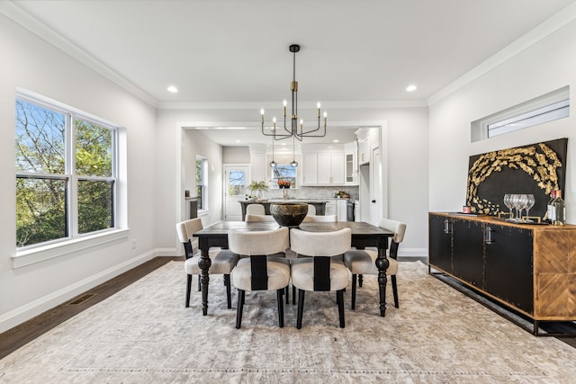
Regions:
<svg viewBox="0 0 576 384"><path fill-rule="evenodd" d="M112 232L119 232L120 237L127 237L128 234L124 233L123 230L120 228L120 220L119 218L119 161L120 161L120 153L119 153L119 135L120 129L117 124L113 124L109 121L104 121L98 117L92 116L86 112L82 112L77 110L74 107L68 106L63 103L58 103L57 101L51 100L47 97L40 96L38 94L33 94L31 92L18 89L15 94L15 100L22 101L24 103L31 103L35 107L40 107L44 109L48 109L52 112L58 112L65 116L65 133L64 133L64 163L65 169L64 174L49 174L49 173L31 173L31 172L23 172L19 170L15 170L15 179L18 178L28 178L33 180L40 180L40 179L49 179L49 180L65 180L65 190L66 190L66 197L65 197L65 205L66 205L66 226L67 226L67 234L65 237L54 238L48 241L43 241L40 243L35 243L26 246L18 246L15 244L16 247L16 255L14 258L19 258L25 255L33 255L37 251L46 251L51 248L58 248L60 246L66 246L67 244L76 243L78 240L85 239L85 238L98 238L102 236L106 236ZM14 115L14 119L16 119L16 115ZM15 121L15 120L14 120ZM103 129L108 129L111 132L111 175L110 176L94 176L94 175L85 175L79 174L76 170L76 121L85 121L87 123L96 125ZM14 165L15 165L16 158L14 157ZM16 168L14 166L14 168ZM83 181L105 181L108 183L112 183L112 201L111 201L111 208L112 208L112 220L111 220L111 227L110 228L103 228L98 229L95 231L90 231L86 233L79 233L78 229L78 183ZM114 235L114 238L119 238L119 234ZM96 243L98 241L96 240ZM76 246L73 246L75 248ZM14 261L14 267L19 265L27 265L29 263L35 263L36 259L38 261L55 257L58 254L58 251L53 252L49 251L48 256L42 257L41 255L37 255L31 258L29 262L19 262L16 263ZM17 265L18 264L18 265Z"/></svg>

